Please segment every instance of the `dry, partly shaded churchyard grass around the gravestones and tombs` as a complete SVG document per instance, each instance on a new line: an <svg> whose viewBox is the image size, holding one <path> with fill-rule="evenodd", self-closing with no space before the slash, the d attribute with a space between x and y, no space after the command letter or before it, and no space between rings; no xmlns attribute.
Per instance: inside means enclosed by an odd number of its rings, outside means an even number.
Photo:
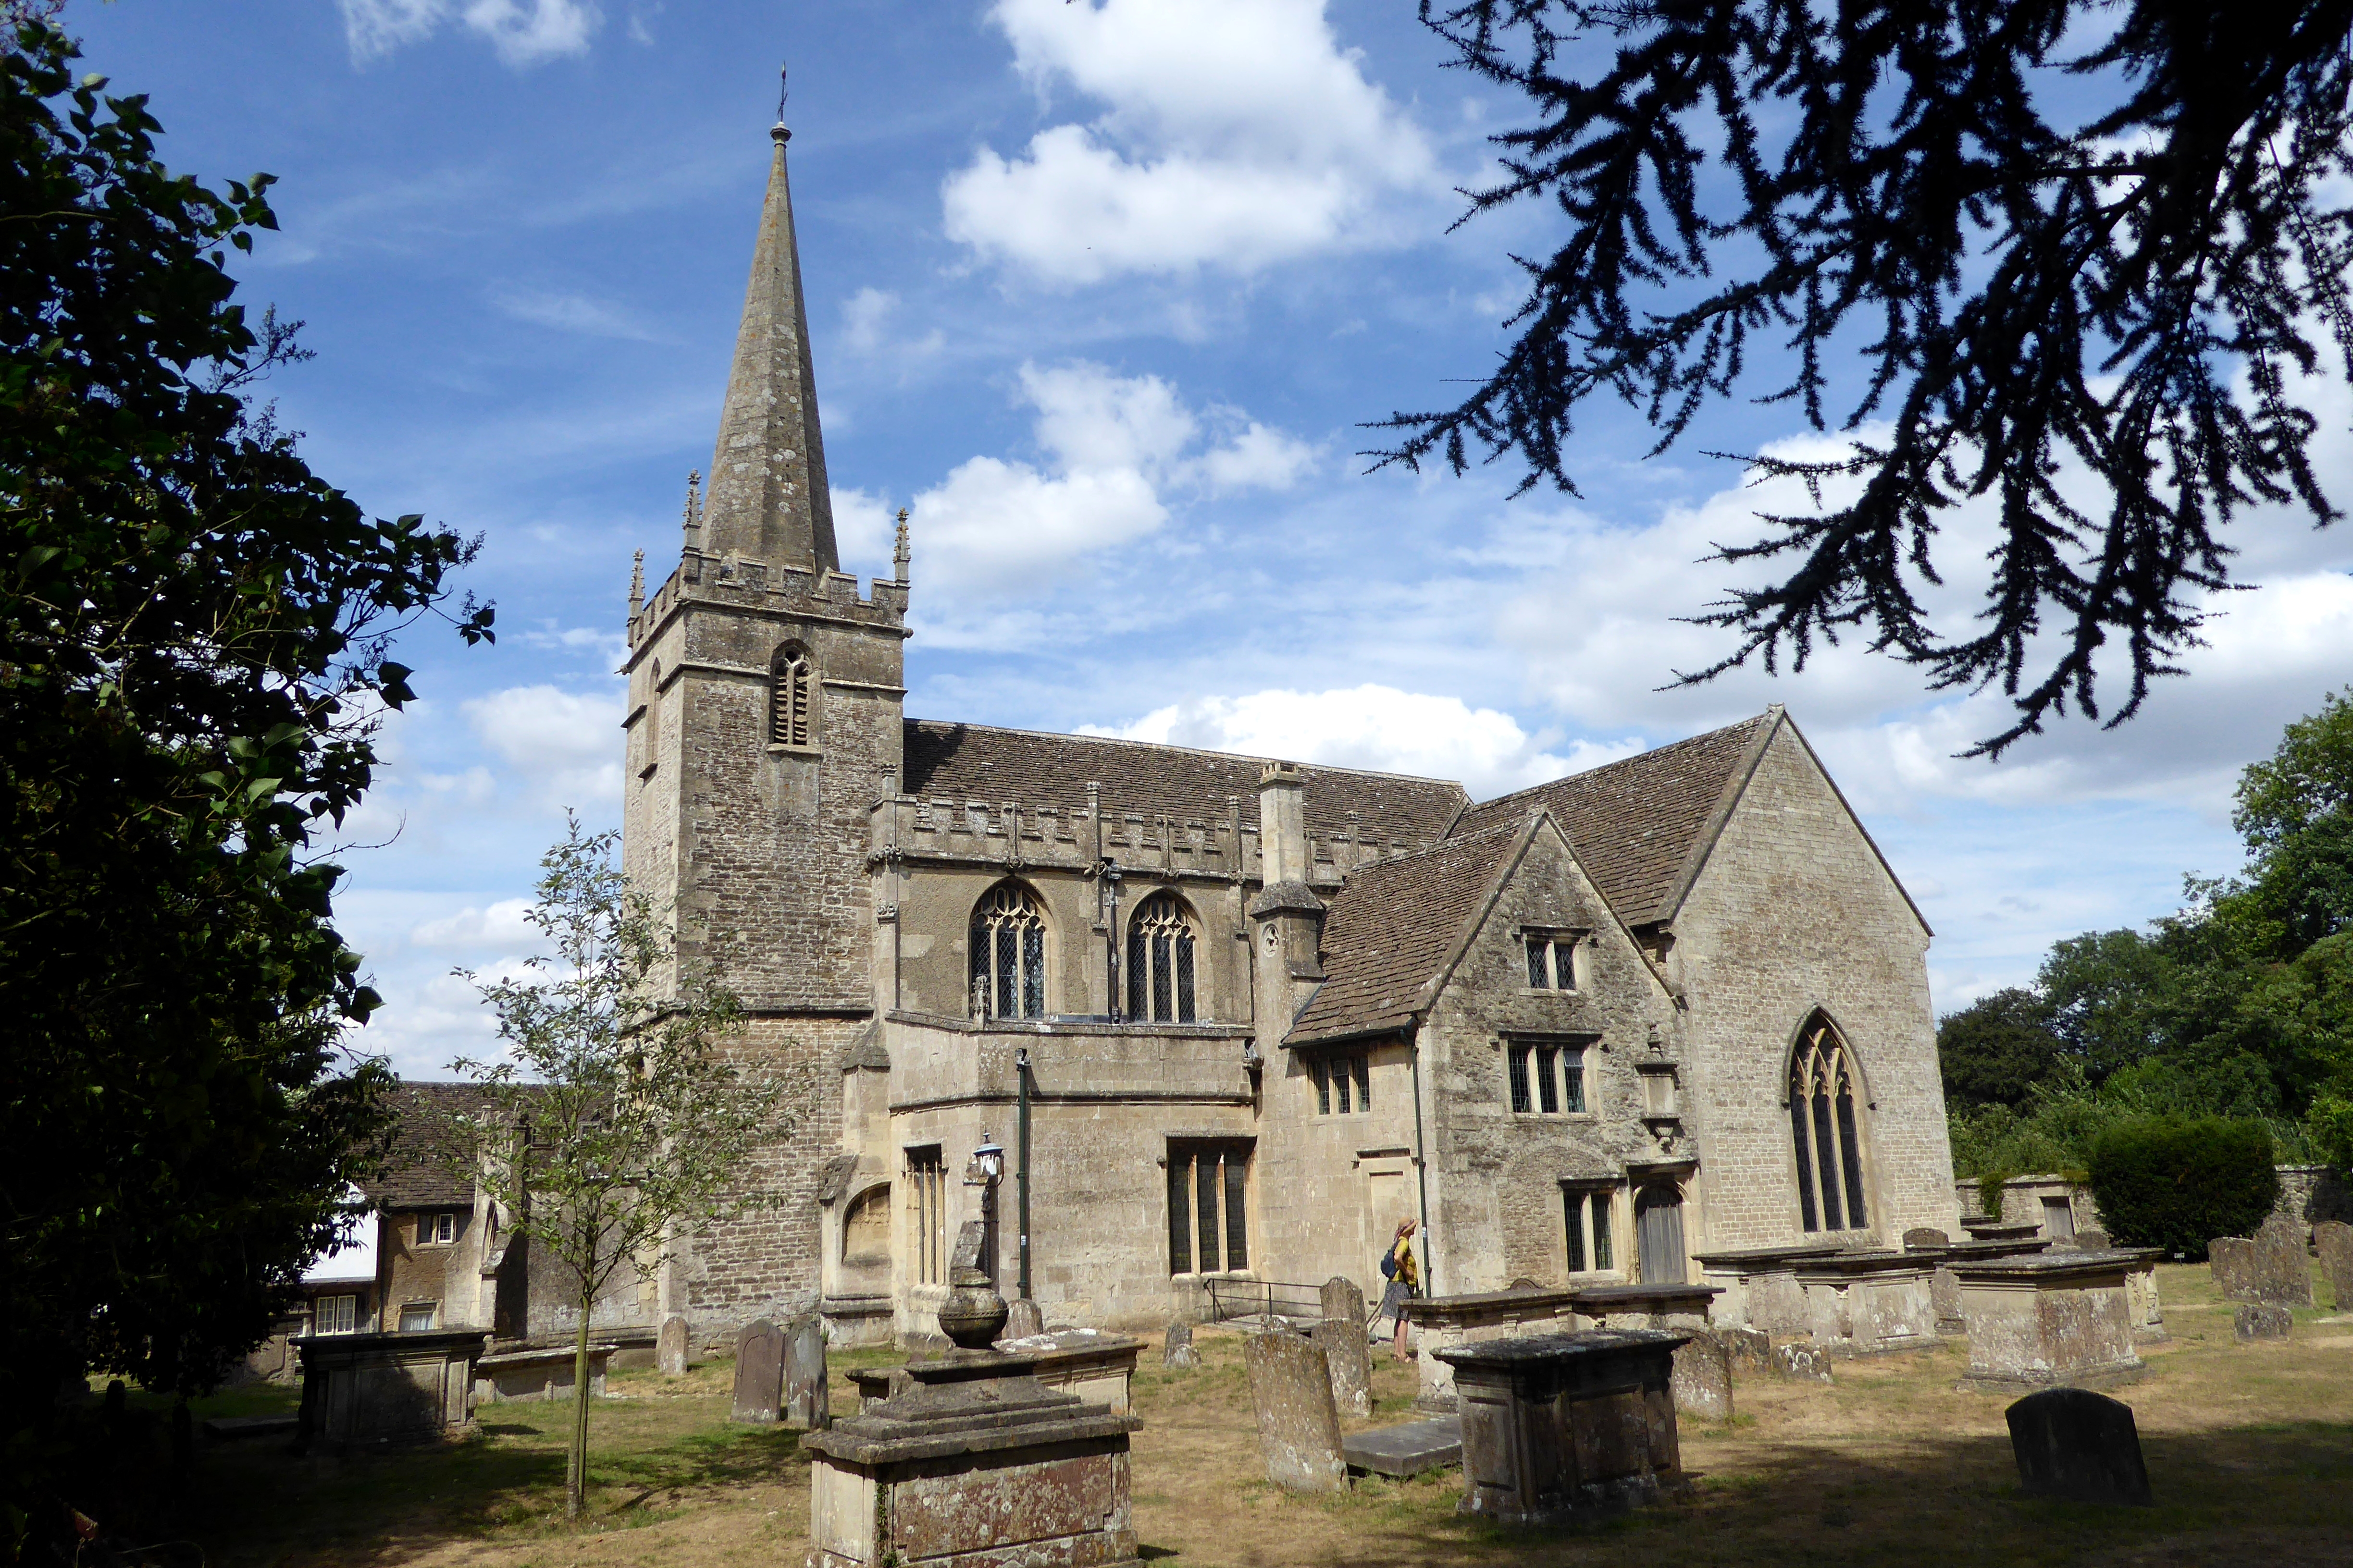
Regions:
<svg viewBox="0 0 2353 1568"><path fill-rule="evenodd" d="M2160 1269L2172 1342L2115 1389L2155 1507L2028 1500L2002 1410L1955 1392L1962 1345L1838 1361L1831 1387L1739 1373L1732 1425L1682 1427L1697 1486L1584 1530L1457 1516L1461 1474L1292 1495L1266 1483L1242 1342L1202 1328L1200 1371L1136 1368L1136 1533L1153 1563L2297 1563L2353 1561L2353 1314L2299 1309L2287 1342L2235 1345L2205 1267ZM2320 1300L2327 1300L2322 1286ZM889 1352L835 1356L842 1373ZM468 1443L294 1460L278 1441L209 1446L184 1530L214 1563L287 1568L798 1568L809 1462L791 1432L727 1422L729 1366L616 1373L595 1410L588 1516L562 1521L565 1403L482 1406ZM1374 1356L1374 1413L1412 1420L1412 1368ZM238 1396L240 1413L254 1394ZM1932 1559L1925 1559L1929 1552Z"/></svg>

